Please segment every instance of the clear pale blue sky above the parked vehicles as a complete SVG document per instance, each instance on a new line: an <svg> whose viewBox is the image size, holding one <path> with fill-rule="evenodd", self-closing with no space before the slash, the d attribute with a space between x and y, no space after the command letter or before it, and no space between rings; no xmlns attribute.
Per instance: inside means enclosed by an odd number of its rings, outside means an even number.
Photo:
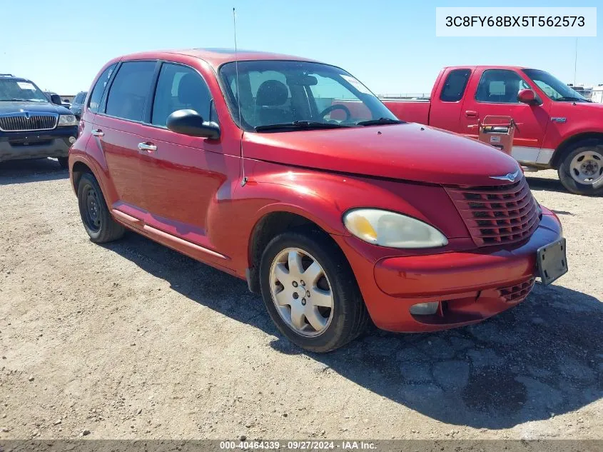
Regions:
<svg viewBox="0 0 603 452"><path fill-rule="evenodd" d="M573 2L505 1L504 6ZM0 0L0 73L42 89L89 88L114 56L153 49L232 47L307 56L350 71L377 94L430 91L442 66L512 64L574 81L575 38L437 38L435 6L487 1L358 0ZM579 38L577 83L603 84L603 4L596 38Z"/></svg>

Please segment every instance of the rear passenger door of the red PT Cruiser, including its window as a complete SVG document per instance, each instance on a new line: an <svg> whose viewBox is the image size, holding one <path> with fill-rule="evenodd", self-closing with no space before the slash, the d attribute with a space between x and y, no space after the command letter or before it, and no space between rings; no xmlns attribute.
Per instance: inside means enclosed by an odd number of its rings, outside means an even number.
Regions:
<svg viewBox="0 0 603 452"><path fill-rule="evenodd" d="M92 136L102 149L112 188L113 209L142 219L147 210L141 184L139 135L150 109L156 61L126 61L121 64L105 105L93 121Z"/></svg>

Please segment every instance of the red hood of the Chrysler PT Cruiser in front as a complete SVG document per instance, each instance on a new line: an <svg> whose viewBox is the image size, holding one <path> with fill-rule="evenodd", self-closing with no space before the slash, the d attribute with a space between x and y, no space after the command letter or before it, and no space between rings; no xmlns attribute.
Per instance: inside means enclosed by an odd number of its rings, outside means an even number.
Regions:
<svg viewBox="0 0 603 452"><path fill-rule="evenodd" d="M413 123L249 133L243 153L280 164L431 184L505 184L490 176L520 169L492 146Z"/></svg>

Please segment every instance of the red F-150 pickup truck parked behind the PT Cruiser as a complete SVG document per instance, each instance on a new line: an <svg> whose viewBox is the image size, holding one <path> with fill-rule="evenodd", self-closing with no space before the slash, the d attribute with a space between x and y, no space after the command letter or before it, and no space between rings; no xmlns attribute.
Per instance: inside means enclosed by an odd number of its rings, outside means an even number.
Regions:
<svg viewBox="0 0 603 452"><path fill-rule="evenodd" d="M383 99L399 119L477 138L478 119L511 116L512 156L528 171L557 169L576 194L603 194L603 104L551 74L512 66L455 66L440 71L430 99Z"/></svg>

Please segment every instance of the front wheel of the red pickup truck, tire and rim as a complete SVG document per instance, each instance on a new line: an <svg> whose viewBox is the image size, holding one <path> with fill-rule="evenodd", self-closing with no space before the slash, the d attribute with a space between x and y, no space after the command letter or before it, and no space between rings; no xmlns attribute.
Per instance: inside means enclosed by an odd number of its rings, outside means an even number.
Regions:
<svg viewBox="0 0 603 452"><path fill-rule="evenodd" d="M579 141L566 154L557 171L570 192L579 195L603 194L603 141Z"/></svg>

